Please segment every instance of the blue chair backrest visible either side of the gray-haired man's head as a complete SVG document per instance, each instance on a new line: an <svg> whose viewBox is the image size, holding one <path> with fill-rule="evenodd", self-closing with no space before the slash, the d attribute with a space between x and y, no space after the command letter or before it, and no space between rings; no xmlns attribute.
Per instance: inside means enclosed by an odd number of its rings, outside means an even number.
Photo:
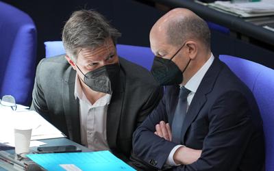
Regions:
<svg viewBox="0 0 274 171"><path fill-rule="evenodd" d="M45 42L46 57L65 53L62 41ZM140 66L151 69L154 55L149 47L138 47L125 44L117 44L117 53L126 60L134 62Z"/></svg>

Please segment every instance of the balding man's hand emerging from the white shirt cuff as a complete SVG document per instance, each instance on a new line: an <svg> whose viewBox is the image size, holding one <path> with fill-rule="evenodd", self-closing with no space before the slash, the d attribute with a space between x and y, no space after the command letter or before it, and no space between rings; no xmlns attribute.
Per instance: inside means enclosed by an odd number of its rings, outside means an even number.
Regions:
<svg viewBox="0 0 274 171"><path fill-rule="evenodd" d="M201 157L201 152L201 150L182 146L175 151L173 159L177 164L188 165L197 161Z"/></svg>

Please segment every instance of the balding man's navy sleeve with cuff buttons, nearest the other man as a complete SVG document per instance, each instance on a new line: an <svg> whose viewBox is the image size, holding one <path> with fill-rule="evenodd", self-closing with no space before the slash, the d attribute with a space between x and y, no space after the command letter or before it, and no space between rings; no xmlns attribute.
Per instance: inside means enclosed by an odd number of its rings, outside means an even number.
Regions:
<svg viewBox="0 0 274 171"><path fill-rule="evenodd" d="M166 115L166 93L158 106L136 129L133 137L133 153L151 167L162 168L175 143L155 135L155 125L161 120L168 122Z"/></svg>

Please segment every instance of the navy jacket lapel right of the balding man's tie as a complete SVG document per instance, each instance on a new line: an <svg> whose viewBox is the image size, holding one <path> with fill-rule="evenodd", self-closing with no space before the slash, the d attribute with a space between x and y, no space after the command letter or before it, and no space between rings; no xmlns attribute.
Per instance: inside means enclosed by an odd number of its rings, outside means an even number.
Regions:
<svg viewBox="0 0 274 171"><path fill-rule="evenodd" d="M197 92L195 93L195 96L192 99L192 102L188 108L186 118L184 120L184 124L182 127L182 142L185 142L185 134L188 130L188 127L190 127L190 124L192 124L193 120L197 118L197 115L199 114L199 111L203 107L203 105L206 103L207 98L206 94L212 91L212 88L214 86L214 83L216 81L216 78L218 77L219 73L221 71L221 63L218 58L215 58L212 65L206 72L206 75L203 77Z"/></svg>

